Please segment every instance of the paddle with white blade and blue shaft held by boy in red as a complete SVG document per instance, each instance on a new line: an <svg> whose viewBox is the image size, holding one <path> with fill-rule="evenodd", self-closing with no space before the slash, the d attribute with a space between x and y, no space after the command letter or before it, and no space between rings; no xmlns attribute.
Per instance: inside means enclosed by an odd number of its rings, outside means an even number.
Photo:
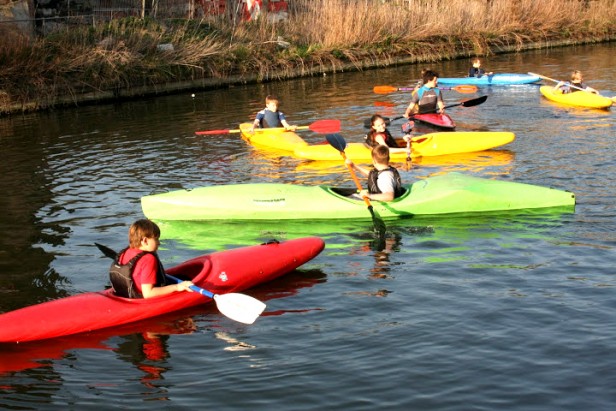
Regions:
<svg viewBox="0 0 616 411"><path fill-rule="evenodd" d="M115 260L117 253L114 250L99 243L94 244L96 244L98 249L101 250L106 257ZM182 282L182 280L172 275L165 273L165 276L176 283ZM223 315L240 323L254 323L263 310L265 310L264 303L249 295L239 293L214 294L196 285L190 286L190 289L201 295L212 298L216 302L216 307L218 307L218 310Z"/></svg>

